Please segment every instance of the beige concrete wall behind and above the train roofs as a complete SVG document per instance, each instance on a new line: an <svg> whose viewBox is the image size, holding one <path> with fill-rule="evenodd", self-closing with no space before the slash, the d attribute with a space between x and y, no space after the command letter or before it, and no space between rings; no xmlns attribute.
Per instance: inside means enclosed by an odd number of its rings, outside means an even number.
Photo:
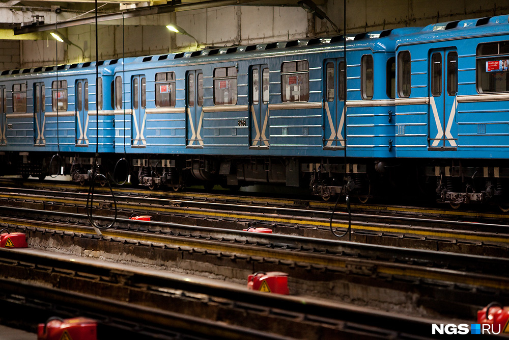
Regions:
<svg viewBox="0 0 509 340"><path fill-rule="evenodd" d="M509 4L495 5L467 0L345 0L347 33L475 18L509 13ZM328 0L321 8L343 32L343 0ZM194 40L169 32L165 25L175 22L194 36L200 47L253 44L336 34L327 20L320 20L299 7L230 6L142 17L125 21L122 47L120 20L99 26L99 59L162 54L194 49ZM73 27L62 33L80 46L58 43L58 63L95 60L94 25ZM55 64L55 41L25 40L16 67ZM3 50L3 48L0 48ZM1 63L1 61L0 61ZM0 64L0 66L2 66ZM5 67L8 65L6 64ZM8 67L11 67L9 64ZM4 67L2 67L4 68Z"/></svg>

